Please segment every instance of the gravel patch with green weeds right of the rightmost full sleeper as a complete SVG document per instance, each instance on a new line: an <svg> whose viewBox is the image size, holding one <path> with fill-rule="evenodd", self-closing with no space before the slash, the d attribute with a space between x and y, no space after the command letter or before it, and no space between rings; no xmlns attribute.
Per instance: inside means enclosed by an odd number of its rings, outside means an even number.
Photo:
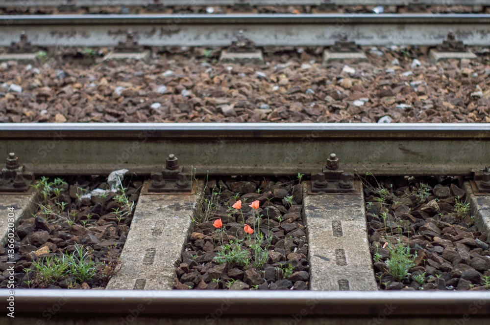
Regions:
<svg viewBox="0 0 490 325"><path fill-rule="evenodd" d="M453 178L386 178L365 190L374 272L386 290L489 290L489 238Z"/></svg>

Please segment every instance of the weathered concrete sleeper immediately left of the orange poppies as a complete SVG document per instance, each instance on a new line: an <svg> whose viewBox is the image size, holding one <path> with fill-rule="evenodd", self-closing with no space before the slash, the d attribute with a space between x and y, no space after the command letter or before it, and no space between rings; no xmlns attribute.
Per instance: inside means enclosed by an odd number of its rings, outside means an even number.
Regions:
<svg viewBox="0 0 490 325"><path fill-rule="evenodd" d="M121 254L123 267L106 289L172 289L175 262L189 238L193 201L189 195L140 196Z"/></svg>

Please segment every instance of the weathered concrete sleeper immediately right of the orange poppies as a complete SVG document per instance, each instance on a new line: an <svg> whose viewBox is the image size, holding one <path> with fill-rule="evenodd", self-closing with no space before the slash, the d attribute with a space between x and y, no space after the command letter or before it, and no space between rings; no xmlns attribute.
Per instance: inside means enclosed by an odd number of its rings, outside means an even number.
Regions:
<svg viewBox="0 0 490 325"><path fill-rule="evenodd" d="M363 195L303 196L312 290L378 290Z"/></svg>

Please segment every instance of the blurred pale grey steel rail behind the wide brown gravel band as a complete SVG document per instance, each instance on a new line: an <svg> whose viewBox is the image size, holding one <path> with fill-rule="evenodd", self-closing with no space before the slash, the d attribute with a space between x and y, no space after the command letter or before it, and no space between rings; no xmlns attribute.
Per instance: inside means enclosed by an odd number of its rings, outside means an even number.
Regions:
<svg viewBox="0 0 490 325"><path fill-rule="evenodd" d="M133 33L146 46L228 46L239 30L257 46L436 45L452 30L466 45L490 44L489 14L7 15L0 46L25 31L38 46L116 46Z"/></svg>

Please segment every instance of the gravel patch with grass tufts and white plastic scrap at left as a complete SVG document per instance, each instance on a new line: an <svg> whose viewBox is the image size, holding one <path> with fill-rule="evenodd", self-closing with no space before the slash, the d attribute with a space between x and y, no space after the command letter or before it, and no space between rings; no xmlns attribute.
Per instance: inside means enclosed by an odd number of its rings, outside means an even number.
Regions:
<svg viewBox="0 0 490 325"><path fill-rule="evenodd" d="M103 289L118 271L141 180L124 180L124 193L111 190L105 177L66 180L38 182L47 186L38 186L37 212L0 247L1 288L9 285L11 265L19 288Z"/></svg>

